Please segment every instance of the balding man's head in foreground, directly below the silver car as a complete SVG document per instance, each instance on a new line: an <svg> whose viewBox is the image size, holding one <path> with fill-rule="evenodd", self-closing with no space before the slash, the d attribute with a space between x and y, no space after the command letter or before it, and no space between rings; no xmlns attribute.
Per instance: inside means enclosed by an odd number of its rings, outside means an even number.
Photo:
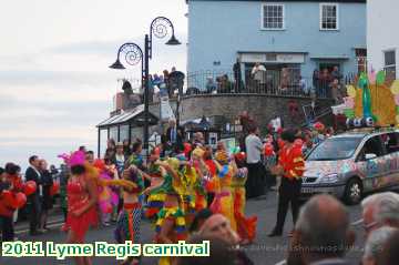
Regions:
<svg viewBox="0 0 399 265"><path fill-rule="evenodd" d="M345 206L330 195L317 195L301 208L296 231L306 255L341 257L352 244L349 215Z"/></svg>

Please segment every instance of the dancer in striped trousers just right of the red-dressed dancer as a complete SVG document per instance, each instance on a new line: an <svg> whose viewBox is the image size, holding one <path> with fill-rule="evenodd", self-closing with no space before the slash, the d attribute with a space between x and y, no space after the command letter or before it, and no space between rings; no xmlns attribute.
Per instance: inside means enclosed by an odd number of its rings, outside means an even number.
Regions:
<svg viewBox="0 0 399 265"><path fill-rule="evenodd" d="M139 201L140 193L145 188L142 172L131 165L123 171L122 180L127 181L132 186L124 186L123 192L123 210L121 211L115 230L115 238L119 244L131 241L133 244L140 244L140 223L142 205ZM129 257L122 265L139 264L140 258Z"/></svg>

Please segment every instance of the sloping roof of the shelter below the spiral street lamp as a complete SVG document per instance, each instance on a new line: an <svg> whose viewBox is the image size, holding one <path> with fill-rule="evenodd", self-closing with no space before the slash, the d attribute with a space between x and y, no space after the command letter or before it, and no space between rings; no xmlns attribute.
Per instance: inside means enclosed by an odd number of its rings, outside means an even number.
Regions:
<svg viewBox="0 0 399 265"><path fill-rule="evenodd" d="M101 122L98 128L109 128L112 125L119 125L119 124L130 124L134 122L135 120L139 120L139 116L143 116L144 114L144 104L137 105L136 108L124 111L120 114L113 115L105 121ZM157 118L150 112L150 124L156 124Z"/></svg>

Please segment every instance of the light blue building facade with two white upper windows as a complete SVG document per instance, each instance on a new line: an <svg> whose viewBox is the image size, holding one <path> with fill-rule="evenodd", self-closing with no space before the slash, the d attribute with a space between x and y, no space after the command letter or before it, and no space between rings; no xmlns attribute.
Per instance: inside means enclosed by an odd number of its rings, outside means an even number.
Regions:
<svg viewBox="0 0 399 265"><path fill-rule="evenodd" d="M366 0L188 0L188 75L233 72L246 82L256 62L311 82L315 70L365 69Z"/></svg>

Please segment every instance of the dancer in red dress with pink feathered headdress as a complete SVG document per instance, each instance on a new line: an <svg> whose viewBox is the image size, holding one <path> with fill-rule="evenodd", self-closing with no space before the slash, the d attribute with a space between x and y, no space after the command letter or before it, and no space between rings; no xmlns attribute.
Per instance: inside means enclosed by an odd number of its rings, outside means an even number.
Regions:
<svg viewBox="0 0 399 265"><path fill-rule="evenodd" d="M68 244L83 244L90 226L98 224L98 172L91 167L82 151L74 152L68 160L71 177L68 181L68 215L63 231L68 232ZM90 257L74 257L78 265L90 265Z"/></svg>

